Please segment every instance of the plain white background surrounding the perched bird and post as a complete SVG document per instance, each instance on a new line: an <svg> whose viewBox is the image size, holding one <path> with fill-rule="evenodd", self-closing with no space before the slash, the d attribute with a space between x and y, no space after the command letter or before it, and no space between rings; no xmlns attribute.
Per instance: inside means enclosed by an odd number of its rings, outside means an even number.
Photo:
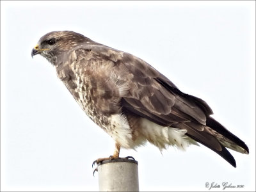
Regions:
<svg viewBox="0 0 256 192"><path fill-rule="evenodd" d="M1 191L97 191L92 162L113 154L54 67L31 58L57 30L147 61L250 148L231 150L237 168L204 146L121 150L139 162L141 191L255 191L255 1L1 1Z"/></svg>

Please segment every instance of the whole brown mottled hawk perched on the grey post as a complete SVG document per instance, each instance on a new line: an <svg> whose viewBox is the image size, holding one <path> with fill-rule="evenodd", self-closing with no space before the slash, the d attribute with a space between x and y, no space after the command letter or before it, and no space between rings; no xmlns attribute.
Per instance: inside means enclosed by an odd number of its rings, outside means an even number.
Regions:
<svg viewBox="0 0 256 192"><path fill-rule="evenodd" d="M40 54L57 71L83 111L120 148L147 141L160 150L201 143L236 167L227 148L248 154L246 144L211 117L212 109L140 58L94 42L73 31L42 36L31 56ZM227 148L226 148L227 147Z"/></svg>

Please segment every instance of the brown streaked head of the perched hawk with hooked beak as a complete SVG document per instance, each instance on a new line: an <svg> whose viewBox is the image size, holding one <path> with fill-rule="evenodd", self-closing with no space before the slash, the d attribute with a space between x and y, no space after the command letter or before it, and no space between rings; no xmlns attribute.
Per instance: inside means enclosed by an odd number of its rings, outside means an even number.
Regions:
<svg viewBox="0 0 256 192"><path fill-rule="evenodd" d="M89 39L74 31L52 31L40 38L32 49L31 56L33 58L36 54L40 54L55 65L61 53L72 50L86 40Z"/></svg>

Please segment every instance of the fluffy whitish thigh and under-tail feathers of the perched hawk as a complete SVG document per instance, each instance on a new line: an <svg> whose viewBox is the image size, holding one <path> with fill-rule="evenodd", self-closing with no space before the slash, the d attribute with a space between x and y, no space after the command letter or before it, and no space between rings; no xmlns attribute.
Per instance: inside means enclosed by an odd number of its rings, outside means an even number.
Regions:
<svg viewBox="0 0 256 192"><path fill-rule="evenodd" d="M112 128L108 130L108 134L123 148L136 148L144 145L147 141L156 145L159 150L166 149L170 145L185 150L189 145L196 144L185 135L186 130L163 127L146 118L140 118L137 125L139 128L136 129L136 132L132 132L124 115L112 115L109 122L111 122ZM134 137L132 134L136 136Z"/></svg>

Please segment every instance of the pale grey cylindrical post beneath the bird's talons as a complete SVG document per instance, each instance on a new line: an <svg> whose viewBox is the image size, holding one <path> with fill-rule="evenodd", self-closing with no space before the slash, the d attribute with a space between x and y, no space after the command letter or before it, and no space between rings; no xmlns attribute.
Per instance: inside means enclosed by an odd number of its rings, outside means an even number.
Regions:
<svg viewBox="0 0 256 192"><path fill-rule="evenodd" d="M113 159L97 164L99 191L139 191L138 161Z"/></svg>

